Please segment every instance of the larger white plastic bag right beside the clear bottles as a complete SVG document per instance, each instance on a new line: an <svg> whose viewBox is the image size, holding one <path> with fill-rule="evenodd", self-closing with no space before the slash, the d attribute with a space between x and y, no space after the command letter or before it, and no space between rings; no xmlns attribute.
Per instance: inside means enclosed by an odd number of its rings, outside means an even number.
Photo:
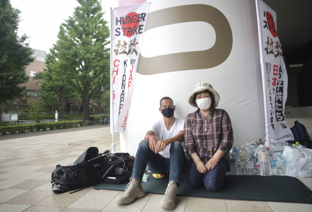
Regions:
<svg viewBox="0 0 312 212"><path fill-rule="evenodd" d="M298 173L302 166L308 162L309 158L305 152L292 149L290 146L285 146L282 156L287 160L286 174L291 177L298 177Z"/></svg>

